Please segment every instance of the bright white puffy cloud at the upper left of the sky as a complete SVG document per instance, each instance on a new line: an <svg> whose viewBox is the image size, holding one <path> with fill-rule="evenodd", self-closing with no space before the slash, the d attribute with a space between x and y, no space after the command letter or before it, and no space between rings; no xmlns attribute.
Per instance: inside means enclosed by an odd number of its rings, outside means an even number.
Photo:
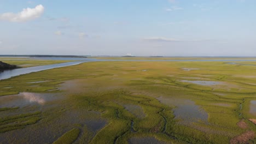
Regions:
<svg viewBox="0 0 256 144"><path fill-rule="evenodd" d="M44 7L42 4L37 5L35 8L26 8L19 13L3 13L0 14L0 20L11 22L22 22L36 19L44 13Z"/></svg>

